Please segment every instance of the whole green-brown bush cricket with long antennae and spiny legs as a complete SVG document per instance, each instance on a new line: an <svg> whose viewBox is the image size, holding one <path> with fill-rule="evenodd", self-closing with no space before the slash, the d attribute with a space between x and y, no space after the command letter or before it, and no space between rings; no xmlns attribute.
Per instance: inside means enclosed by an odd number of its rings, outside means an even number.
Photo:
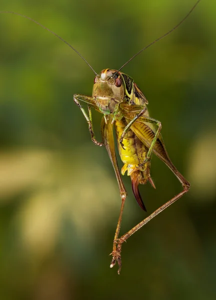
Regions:
<svg viewBox="0 0 216 300"><path fill-rule="evenodd" d="M189 14L192 12L199 1L200 0L198 0L194 4L187 15L175 27L142 48L127 62L125 62L118 70L107 68L103 69L99 74L97 74L93 70L90 64L75 48L73 48L69 43L67 43L53 31L49 30L37 21L25 15L12 11L0 11L0 13L14 13L21 15L42 26L43 28L60 38L67 45L69 45L79 56L81 56L81 58L95 73L92 96L74 94L73 100L81 109L88 123L88 129L92 141L96 145L104 145L106 147L117 178L121 197L121 208L114 235L113 248L110 254L112 255L110 267L113 267L117 262L118 274L121 268L122 243L126 241L126 239L130 237L135 231L145 225L153 217L155 217L158 213L160 213L166 207L179 199L189 190L190 187L190 183L178 172L168 156L162 136L160 134L161 123L160 121L149 116L146 106L148 104L147 99L145 98L144 94L139 89L137 84L134 82L134 80L125 73L122 73L120 70L144 49L176 29L189 16ZM80 104L80 101L87 103L88 113L85 112L84 108ZM103 117L101 119L102 142L96 140L93 132L91 107L103 114ZM151 213L121 237L118 237L118 235L120 231L124 202L127 193L121 179L115 155L113 126L115 127L116 131L119 155L122 162L124 163L121 169L121 173L124 174L127 171L127 175L130 176L133 194L139 206L143 210L146 211L138 190L138 185L145 184L147 181L149 181L155 188L153 180L150 177L150 160L152 153L158 156L170 168L170 170L175 174L183 187L183 190L181 192L179 192L172 199L157 208L153 213Z"/></svg>

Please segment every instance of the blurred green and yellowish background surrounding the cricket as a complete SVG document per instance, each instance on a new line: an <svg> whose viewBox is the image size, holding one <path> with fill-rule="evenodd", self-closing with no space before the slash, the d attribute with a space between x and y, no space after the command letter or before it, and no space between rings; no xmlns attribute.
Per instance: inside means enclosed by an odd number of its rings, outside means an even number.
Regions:
<svg viewBox="0 0 216 300"><path fill-rule="evenodd" d="M99 72L119 68L185 16L195 0L1 0L71 43ZM74 93L93 72L33 22L0 14L0 299L215 299L216 2L202 0L173 33L122 71L162 123L169 155L191 190L122 246L110 269L120 197ZM98 140L101 114L93 113ZM122 166L119 160L120 167ZM152 158L140 186L148 213L181 190ZM130 178L121 233L146 217Z"/></svg>

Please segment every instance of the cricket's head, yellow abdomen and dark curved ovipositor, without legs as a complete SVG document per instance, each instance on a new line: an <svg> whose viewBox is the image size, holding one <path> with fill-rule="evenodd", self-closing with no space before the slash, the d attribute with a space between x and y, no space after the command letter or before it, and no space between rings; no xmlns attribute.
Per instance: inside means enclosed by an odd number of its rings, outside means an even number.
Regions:
<svg viewBox="0 0 216 300"><path fill-rule="evenodd" d="M74 95L75 101L78 97L79 95ZM133 121L141 114L147 117L147 100L131 77L116 70L104 69L94 79L92 101L104 115L112 115L118 151L124 162L121 173L124 174L127 171L127 174L130 175L135 198L140 207L146 210L138 191L138 184L146 183L149 179L154 186L150 178L150 161L144 163L148 148L130 129L132 123L125 118L126 116L130 117L125 108L138 103L139 105L135 105L138 108L134 111L137 113ZM149 127L147 128L151 131ZM150 136L150 132L148 135ZM153 136L154 133L151 132L151 135Z"/></svg>

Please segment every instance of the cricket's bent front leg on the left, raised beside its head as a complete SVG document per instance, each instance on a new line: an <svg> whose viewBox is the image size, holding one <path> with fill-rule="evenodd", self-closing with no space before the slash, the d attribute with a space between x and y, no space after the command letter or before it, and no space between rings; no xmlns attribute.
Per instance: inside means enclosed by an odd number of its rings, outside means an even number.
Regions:
<svg viewBox="0 0 216 300"><path fill-rule="evenodd" d="M83 113L87 123L88 123L88 130L90 132L90 136L91 136L91 140L93 141L93 143L97 146L102 146L103 143L99 142L96 140L94 132L93 132L93 125L92 125L92 117L91 117L91 109L90 107L93 107L95 110L99 111L99 109L97 108L94 100L92 97L87 96L87 95L80 95L80 94L75 94L73 95L73 101L76 103L76 105L81 109L81 112ZM79 103L79 101L84 101L88 104L88 115L85 112L84 108L81 106L81 104Z"/></svg>

